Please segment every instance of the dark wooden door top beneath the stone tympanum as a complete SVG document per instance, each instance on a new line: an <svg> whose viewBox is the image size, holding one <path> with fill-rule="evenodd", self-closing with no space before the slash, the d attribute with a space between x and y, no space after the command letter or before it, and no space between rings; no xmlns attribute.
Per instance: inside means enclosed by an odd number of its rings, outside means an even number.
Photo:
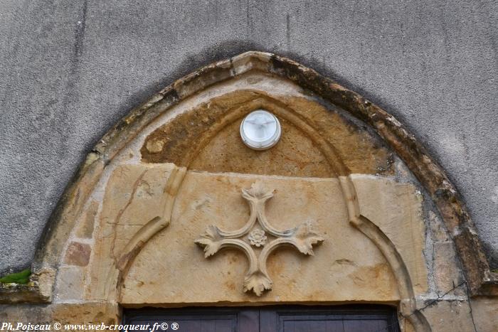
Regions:
<svg viewBox="0 0 498 332"><path fill-rule="evenodd" d="M396 310L389 306L135 309L124 311L124 323L157 323L156 331L181 332L400 331Z"/></svg>

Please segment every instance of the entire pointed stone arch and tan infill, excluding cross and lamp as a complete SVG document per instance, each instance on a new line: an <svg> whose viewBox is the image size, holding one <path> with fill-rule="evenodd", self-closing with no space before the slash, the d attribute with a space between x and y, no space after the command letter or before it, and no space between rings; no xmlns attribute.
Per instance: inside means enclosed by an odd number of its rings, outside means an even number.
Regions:
<svg viewBox="0 0 498 332"><path fill-rule="evenodd" d="M267 151L238 137L254 109L282 123ZM245 223L241 193L255 181L272 191L268 220L283 229L311 219L324 236L312 257L276 250L272 289L260 296L243 291L243 253L205 259L194 243L208 225ZM270 53L201 68L124 117L88 155L46 234L25 291L115 320L122 306L382 303L407 331L430 331L450 309L425 310L425 299L494 289L465 205L403 125ZM451 289L464 282L468 294Z"/></svg>

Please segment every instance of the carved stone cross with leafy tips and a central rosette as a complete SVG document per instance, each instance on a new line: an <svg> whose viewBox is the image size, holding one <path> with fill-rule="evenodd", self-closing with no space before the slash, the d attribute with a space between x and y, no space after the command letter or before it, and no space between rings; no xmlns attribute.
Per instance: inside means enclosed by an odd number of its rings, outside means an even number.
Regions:
<svg viewBox="0 0 498 332"><path fill-rule="evenodd" d="M266 270L266 260L275 248L291 245L304 255L314 255L313 245L323 242L324 238L312 231L309 222L302 223L290 230L276 230L272 227L265 216L265 204L273 197L273 191L266 191L260 181L253 183L250 189L243 189L242 197L248 201L250 206L250 217L243 227L233 232L225 232L214 225L209 225L206 232L195 242L204 248L206 258L216 254L224 247L236 248L245 252L249 259L249 269L245 273L243 290L252 290L260 296L263 291L272 289L272 280ZM253 229L256 221L259 222L263 230ZM265 232L276 238L266 243ZM248 233L249 243L242 239ZM256 256L251 245L263 247L259 257Z"/></svg>

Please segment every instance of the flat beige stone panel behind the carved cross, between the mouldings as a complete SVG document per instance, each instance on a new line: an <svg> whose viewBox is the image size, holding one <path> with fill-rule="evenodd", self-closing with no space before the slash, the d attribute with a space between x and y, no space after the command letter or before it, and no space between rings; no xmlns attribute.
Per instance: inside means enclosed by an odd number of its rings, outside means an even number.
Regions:
<svg viewBox="0 0 498 332"><path fill-rule="evenodd" d="M242 188L259 178L275 188L267 202L272 225L284 230L312 220L325 241L304 257L282 249L270 255L272 291L260 298L243 293L248 262L238 251L205 259L194 240L208 225L235 230L249 208ZM394 199L394 197L393 197ZM386 259L351 227L335 178L285 178L187 173L176 198L171 225L137 255L122 288L124 304L202 304L292 301L396 301L396 279Z"/></svg>

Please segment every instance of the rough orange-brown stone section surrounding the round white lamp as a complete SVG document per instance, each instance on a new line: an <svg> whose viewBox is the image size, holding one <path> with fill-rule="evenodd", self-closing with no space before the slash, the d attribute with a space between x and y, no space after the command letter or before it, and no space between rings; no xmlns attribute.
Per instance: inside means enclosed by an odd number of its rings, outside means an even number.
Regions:
<svg viewBox="0 0 498 332"><path fill-rule="evenodd" d="M248 81L268 80L251 74ZM270 84L285 85L284 81ZM277 89L271 87L270 90ZM253 151L240 140L238 126L255 109L267 109L282 124L279 143L267 151ZM299 119L294 121L287 115ZM317 141L312 132L322 140ZM391 154L363 129L304 97L273 95L261 90L238 90L179 114L152 132L142 145L142 161L171 162L211 172L255 173L280 176L329 178L337 169L323 154L323 145L337 153L353 173L392 174ZM343 174L344 175L344 174Z"/></svg>

